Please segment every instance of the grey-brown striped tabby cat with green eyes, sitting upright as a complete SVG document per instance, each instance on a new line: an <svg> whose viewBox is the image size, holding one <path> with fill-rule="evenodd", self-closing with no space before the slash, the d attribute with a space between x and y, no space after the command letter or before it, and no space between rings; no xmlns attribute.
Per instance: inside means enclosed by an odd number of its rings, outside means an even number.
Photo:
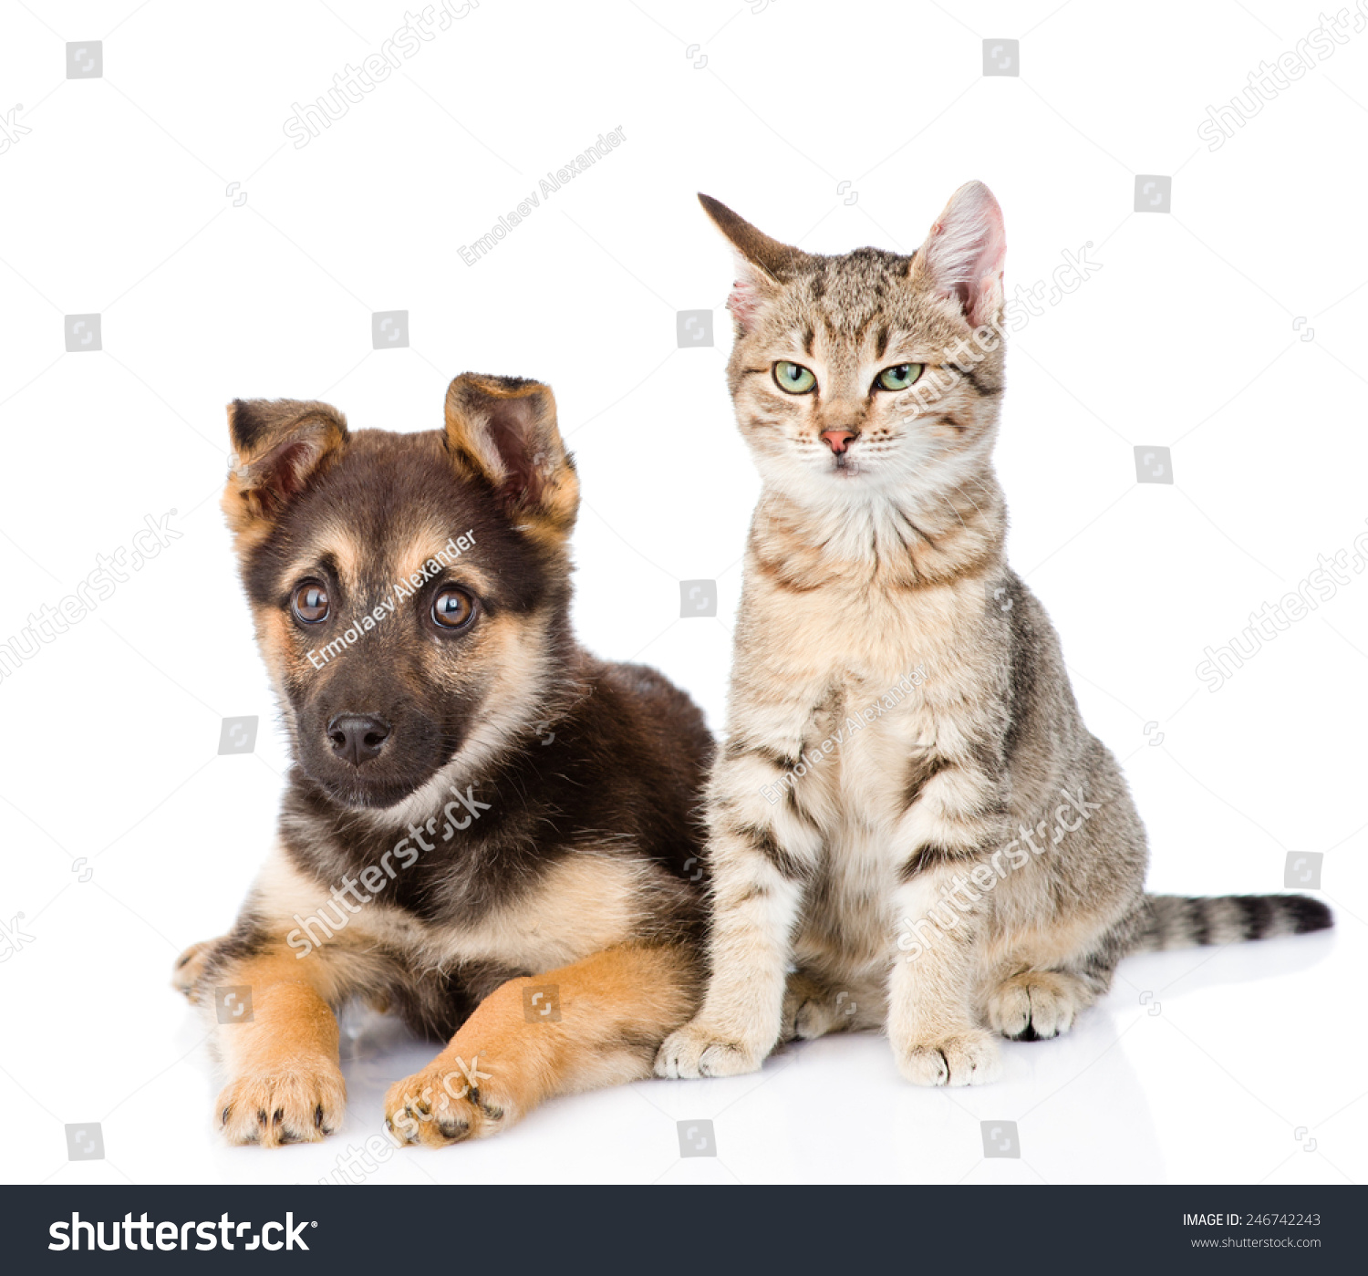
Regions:
<svg viewBox="0 0 1368 1276"><path fill-rule="evenodd" d="M995 1033L1067 1030L1126 953L1331 925L1300 896L1144 894L1126 782L1004 557L988 189L956 191L910 257L803 253L702 198L737 253L728 376L763 492L710 784L711 982L657 1071L886 1028L910 1080L982 1082ZM787 391L780 361L813 388Z"/></svg>

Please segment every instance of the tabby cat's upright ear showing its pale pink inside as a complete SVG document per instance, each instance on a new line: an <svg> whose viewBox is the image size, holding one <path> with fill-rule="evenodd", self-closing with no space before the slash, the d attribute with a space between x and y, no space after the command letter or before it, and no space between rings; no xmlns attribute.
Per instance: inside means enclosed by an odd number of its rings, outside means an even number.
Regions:
<svg viewBox="0 0 1368 1276"><path fill-rule="evenodd" d="M977 328L1003 304L1005 256L1007 231L997 200L982 182L966 182L936 219L912 268L943 297L956 300Z"/></svg>

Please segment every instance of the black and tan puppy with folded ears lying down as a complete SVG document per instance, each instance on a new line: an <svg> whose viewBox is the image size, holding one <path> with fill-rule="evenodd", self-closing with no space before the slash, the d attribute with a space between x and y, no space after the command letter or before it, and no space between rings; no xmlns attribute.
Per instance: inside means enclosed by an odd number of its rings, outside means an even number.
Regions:
<svg viewBox="0 0 1368 1276"><path fill-rule="evenodd" d="M397 1139L650 1076L705 974L713 743L687 695L570 632L579 480L550 388L458 376L423 434L261 399L228 427L223 510L293 766L237 925L175 972L213 1023L223 1134L339 1126L352 998L446 1042L390 1090Z"/></svg>

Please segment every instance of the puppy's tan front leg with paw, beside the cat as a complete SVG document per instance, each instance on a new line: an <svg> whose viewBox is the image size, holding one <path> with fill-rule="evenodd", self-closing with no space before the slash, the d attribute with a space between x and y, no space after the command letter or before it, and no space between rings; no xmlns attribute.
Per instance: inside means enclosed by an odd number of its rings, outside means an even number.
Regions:
<svg viewBox="0 0 1368 1276"><path fill-rule="evenodd" d="M386 1120L436 1147L497 1134L553 1095L650 1076L654 1044L692 1013L695 981L694 957L677 948L614 948L510 979L431 1064L391 1086ZM540 989L554 1001L534 1005ZM558 1020L534 1018L543 1002Z"/></svg>

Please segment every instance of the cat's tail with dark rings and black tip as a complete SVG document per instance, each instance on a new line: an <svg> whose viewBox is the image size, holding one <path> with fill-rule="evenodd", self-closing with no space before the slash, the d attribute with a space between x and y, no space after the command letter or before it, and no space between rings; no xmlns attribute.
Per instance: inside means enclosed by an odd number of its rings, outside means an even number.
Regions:
<svg viewBox="0 0 1368 1276"><path fill-rule="evenodd" d="M1130 951L1271 940L1334 925L1330 909L1308 894L1146 894Z"/></svg>

